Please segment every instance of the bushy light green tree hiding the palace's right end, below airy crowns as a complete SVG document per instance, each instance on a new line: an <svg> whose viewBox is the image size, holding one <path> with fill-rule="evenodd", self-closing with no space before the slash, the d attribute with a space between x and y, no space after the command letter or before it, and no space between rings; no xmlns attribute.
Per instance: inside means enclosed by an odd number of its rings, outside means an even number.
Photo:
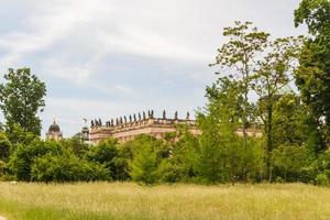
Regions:
<svg viewBox="0 0 330 220"><path fill-rule="evenodd" d="M238 134L241 106L240 84L228 77L207 88L209 103L198 114L201 130L199 174L206 182L234 184L245 179L249 144Z"/></svg>

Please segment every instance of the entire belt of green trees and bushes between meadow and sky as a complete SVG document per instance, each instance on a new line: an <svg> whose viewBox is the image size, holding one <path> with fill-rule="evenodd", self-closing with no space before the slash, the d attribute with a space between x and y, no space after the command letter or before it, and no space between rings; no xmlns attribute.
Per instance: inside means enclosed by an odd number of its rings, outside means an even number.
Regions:
<svg viewBox="0 0 330 220"><path fill-rule="evenodd" d="M272 38L251 22L226 28L210 65L218 79L197 111L198 136L180 127L163 140L124 144L42 141L45 85L30 69L10 69L0 86L0 172L25 182L330 185L329 15L328 0L302 0L295 22L307 24L308 36Z"/></svg>

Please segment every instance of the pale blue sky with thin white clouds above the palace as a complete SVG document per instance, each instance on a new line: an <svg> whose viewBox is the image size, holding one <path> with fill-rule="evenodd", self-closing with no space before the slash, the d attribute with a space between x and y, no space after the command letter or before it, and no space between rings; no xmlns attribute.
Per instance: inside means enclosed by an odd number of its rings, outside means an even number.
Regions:
<svg viewBox="0 0 330 220"><path fill-rule="evenodd" d="M30 67L46 82L43 135L84 119L153 109L184 118L206 103L224 26L252 21L272 37L294 28L299 0L0 0L0 74ZM3 79L0 79L3 82ZM173 114L173 116L172 116ZM3 116L0 116L3 121Z"/></svg>

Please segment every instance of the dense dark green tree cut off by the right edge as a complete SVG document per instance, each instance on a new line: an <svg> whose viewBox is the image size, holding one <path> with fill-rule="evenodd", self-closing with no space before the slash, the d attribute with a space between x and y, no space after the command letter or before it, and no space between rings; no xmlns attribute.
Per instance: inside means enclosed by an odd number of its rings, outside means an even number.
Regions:
<svg viewBox="0 0 330 220"><path fill-rule="evenodd" d="M316 128L330 143L330 1L302 0L295 11L296 26L307 24L310 37L300 56L296 84L305 103L310 107Z"/></svg>

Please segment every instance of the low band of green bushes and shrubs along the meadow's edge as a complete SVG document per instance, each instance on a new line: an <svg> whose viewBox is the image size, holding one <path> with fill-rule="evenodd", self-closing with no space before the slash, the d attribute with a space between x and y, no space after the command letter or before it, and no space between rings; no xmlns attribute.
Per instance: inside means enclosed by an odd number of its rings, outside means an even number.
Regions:
<svg viewBox="0 0 330 220"><path fill-rule="evenodd" d="M204 123L204 134L193 135L187 128L157 140L140 135L120 144L108 139L88 145L79 139L42 141L20 128L14 132L20 143L13 144L0 133L1 178L22 182L95 182L133 180L161 183L262 183L267 182L264 139L243 138L219 132L215 124ZM3 154L6 153L6 154ZM330 152L311 156L305 146L280 145L272 152L272 182L304 182L329 185Z"/></svg>

